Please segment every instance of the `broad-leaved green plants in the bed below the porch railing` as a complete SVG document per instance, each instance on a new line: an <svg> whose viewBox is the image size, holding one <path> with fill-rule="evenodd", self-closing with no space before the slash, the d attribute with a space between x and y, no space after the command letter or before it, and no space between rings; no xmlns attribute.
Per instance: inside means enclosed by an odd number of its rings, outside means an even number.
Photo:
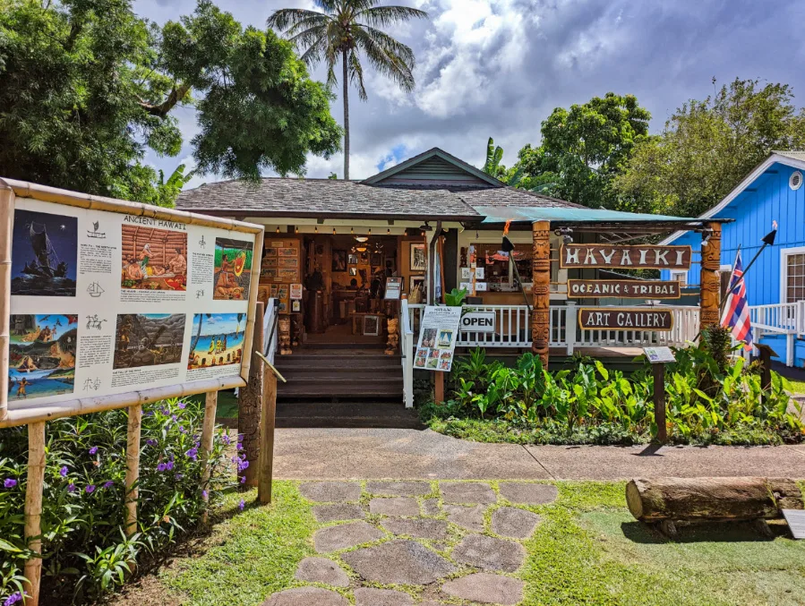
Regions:
<svg viewBox="0 0 805 606"><path fill-rule="evenodd" d="M714 339L715 340L715 339ZM805 439L790 384L758 367L722 365L709 337L675 352L665 372L667 430L676 443L782 443ZM572 370L545 371L524 354L517 366L487 362L477 349L454 367L452 398L425 406L433 429L464 438L533 443L639 443L657 432L649 364L632 376L579 358Z"/></svg>

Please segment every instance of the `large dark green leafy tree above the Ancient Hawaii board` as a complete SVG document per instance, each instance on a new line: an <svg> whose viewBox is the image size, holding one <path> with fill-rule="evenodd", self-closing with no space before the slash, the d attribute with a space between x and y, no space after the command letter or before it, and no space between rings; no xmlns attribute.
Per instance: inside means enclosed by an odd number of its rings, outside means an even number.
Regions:
<svg viewBox="0 0 805 606"><path fill-rule="evenodd" d="M330 93L293 47L207 0L160 29L130 0L0 0L0 175L150 203L167 182L142 159L176 156L172 110L198 93L201 172L258 178L338 150ZM182 181L184 183L184 181ZM178 186L177 186L178 184Z"/></svg>

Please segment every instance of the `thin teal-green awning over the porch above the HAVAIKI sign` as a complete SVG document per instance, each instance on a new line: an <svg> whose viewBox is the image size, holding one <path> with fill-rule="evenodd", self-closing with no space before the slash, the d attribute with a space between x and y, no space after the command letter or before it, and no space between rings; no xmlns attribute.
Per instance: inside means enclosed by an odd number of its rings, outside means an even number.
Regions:
<svg viewBox="0 0 805 606"><path fill-rule="evenodd" d="M689 223L695 218L649 215L647 213L623 212L604 209L568 209L542 206L476 206L484 223L506 221L562 221L567 223Z"/></svg>

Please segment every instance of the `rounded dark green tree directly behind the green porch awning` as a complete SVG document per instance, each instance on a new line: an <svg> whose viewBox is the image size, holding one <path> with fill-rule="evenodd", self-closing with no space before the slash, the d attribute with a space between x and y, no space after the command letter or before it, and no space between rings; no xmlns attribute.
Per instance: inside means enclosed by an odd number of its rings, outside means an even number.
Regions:
<svg viewBox="0 0 805 606"><path fill-rule="evenodd" d="M557 107L542 124L542 144L520 149L511 170L528 189L591 208L616 208L612 179L648 135L651 115L634 95L606 93L569 110Z"/></svg>

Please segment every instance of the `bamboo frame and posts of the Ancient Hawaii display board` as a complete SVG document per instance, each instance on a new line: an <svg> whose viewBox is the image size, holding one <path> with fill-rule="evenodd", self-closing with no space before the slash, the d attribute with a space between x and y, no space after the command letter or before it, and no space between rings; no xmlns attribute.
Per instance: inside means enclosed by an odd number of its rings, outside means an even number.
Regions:
<svg viewBox="0 0 805 606"><path fill-rule="evenodd" d="M64 207L73 207L73 209L88 209L92 211L103 211L107 213L119 213L128 216L124 220L131 219L133 223L141 223L146 225L152 224L168 224L175 226L177 230L185 230L189 233L198 233L188 230L188 226L214 228L217 230L226 230L227 235L237 236L242 234L242 238L251 241L253 238L253 254L251 263L251 275L248 286L247 297L243 296L240 300L246 300L246 319L244 325L243 346L240 355L240 371L239 373L233 372L228 376L220 376L217 378L205 378L204 374L196 375L198 380L191 380L189 376L184 382L176 384L165 384L167 380L161 381L160 387L153 388L137 388L136 384L132 385L131 390L124 391L123 393L113 393L110 395L101 395L98 397L74 397L72 399L59 399L50 398L46 404L38 405L36 398L26 400L24 405L20 407L9 407L9 375L10 375L10 345L11 345L11 314L12 314L12 274L13 274L13 233L14 233L14 217L15 210L23 210L31 212L30 209L42 208L42 202L51 203L51 205L63 205ZM46 208L49 206L46 205ZM75 211L72 211L73 214ZM69 211L65 214L70 215ZM94 215L93 215L94 216ZM117 219L120 220L119 218ZM114 222L113 222L114 223ZM139 228L139 227L137 227ZM83 227L82 227L83 229ZM194 229L194 228L192 228ZM69 192L52 187L47 187L39 184L30 184L11 179L0 178L0 365L2 365L2 372L0 372L0 428L11 427L14 425L28 424L29 427L29 467L28 467L28 483L25 498L25 538L31 551L41 553L41 528L39 520L41 517L42 509L42 490L45 474L45 423L50 420L58 419L64 416L73 416L79 414L96 413L100 411L112 410L116 408L129 408L129 422L127 434L127 448L126 448L126 463L127 471L125 476L126 483L126 533L133 534L136 532L137 527L137 481L139 478L140 467L140 432L141 432L141 419L142 419L142 405L154 402L160 399L169 397L185 397L194 394L206 393L207 401L204 412L204 422L201 432L201 459L206 465L207 457L212 447L212 433L215 425L215 412L218 399L218 390L227 388L244 387L249 378L250 365L252 363L252 345L253 333L255 322L255 310L257 302L257 291L259 286L260 276L260 260L263 241L263 226L258 226L242 221L236 221L227 218L213 218L204 215L199 215L190 212L184 212L174 209L163 209L160 207L150 206L146 204L139 204L129 201L121 201L112 198L104 198L79 192ZM98 226L95 226L95 231L98 231ZM31 228L33 233L33 228ZM162 236L161 240L161 262L167 262L167 250L169 250L168 242L171 241L169 235ZM235 239L230 238L230 240ZM213 238L218 240L218 238ZM203 240L203 238L202 238ZM221 238L221 240L225 240ZM174 244L172 243L171 246ZM203 246L207 252L215 251L216 243L205 242ZM50 246L50 244L48 244ZM158 248L159 244L155 244ZM208 248L209 247L209 248ZM187 255L187 246L184 250L179 251L176 249L175 254ZM121 256L123 255L123 247L120 249ZM159 254L159 253L157 253ZM118 257L119 259L119 257ZM83 260L82 260L83 261ZM147 261L147 259L146 259ZM114 253L112 253L112 273L115 273L116 265ZM181 260L176 261L181 265ZM185 263L185 274L187 272L187 260ZM191 266L192 269L192 266ZM212 268L210 268L212 269ZM165 270L165 268L162 268ZM221 269L226 270L226 269ZM78 271L76 271L76 278L78 278ZM120 270L117 270L119 274ZM189 276L188 276L189 277ZM82 277L82 279L84 279ZM213 280L214 281L214 280ZM75 280L73 280L73 294L75 294ZM218 281L217 285L221 282ZM185 282L186 285L186 282ZM243 290L243 289L242 289ZM219 299L218 289L214 288L212 298ZM231 291L230 291L231 292ZM110 293L112 294L112 293ZM246 294L246 293L243 293ZM66 297L62 297L66 302ZM233 298L233 297L230 297ZM134 302L138 299L133 299ZM130 305L131 307L131 305ZM150 307L143 306L146 310L151 311L154 308L153 303ZM186 318L193 319L196 313L210 312L210 297L201 298L196 297L193 293L187 292L184 300L184 309ZM219 308L220 309L220 308ZM186 321L185 318L185 321ZM184 326L184 325L183 325ZM201 333L201 322L199 325L199 332ZM162 334L161 332L159 333ZM184 335L184 333L183 333ZM37 337L39 339L39 337ZM156 341L153 341L156 344ZM176 346L174 346L174 350ZM184 343L181 352L178 356L178 361L186 364L186 359L183 358ZM81 354L81 352L78 352ZM234 358L235 360L237 358ZM227 359L228 362L228 359ZM23 361L23 363L25 363ZM32 363L32 362L31 362ZM74 366L73 360L73 366ZM234 370L234 369L233 369ZM210 373L208 373L210 374ZM215 373L211 373L215 374ZM169 379L168 379L169 380ZM73 379L74 381L74 379ZM118 389L119 391L119 389ZM24 387L23 387L24 393ZM47 399L47 398L46 398ZM204 476L209 474L208 470L204 470ZM42 559L31 558L27 560L25 565L24 575L28 579L28 585L25 591L28 598L25 603L28 606L37 606L39 603L39 579L41 576Z"/></svg>

